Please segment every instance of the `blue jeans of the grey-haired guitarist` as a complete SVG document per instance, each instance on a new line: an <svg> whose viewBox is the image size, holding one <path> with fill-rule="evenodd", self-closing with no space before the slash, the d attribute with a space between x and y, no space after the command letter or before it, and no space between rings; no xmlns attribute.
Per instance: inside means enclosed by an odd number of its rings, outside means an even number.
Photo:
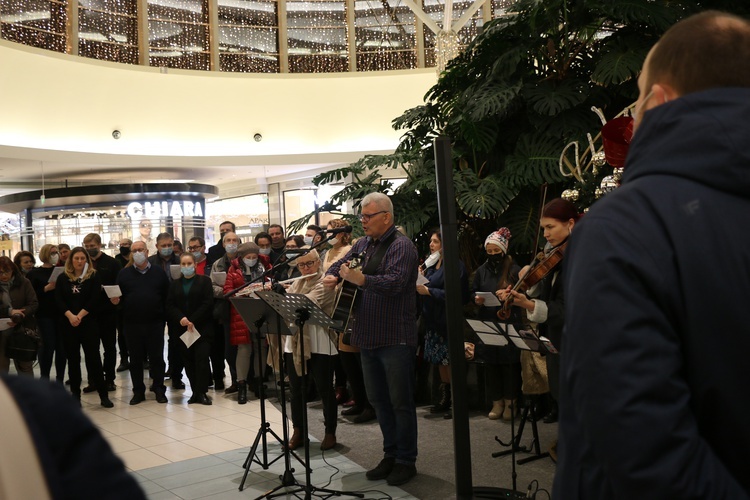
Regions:
<svg viewBox="0 0 750 500"><path fill-rule="evenodd" d="M416 347L393 345L361 352L367 396L383 433L383 454L403 464L417 460L416 351Z"/></svg>

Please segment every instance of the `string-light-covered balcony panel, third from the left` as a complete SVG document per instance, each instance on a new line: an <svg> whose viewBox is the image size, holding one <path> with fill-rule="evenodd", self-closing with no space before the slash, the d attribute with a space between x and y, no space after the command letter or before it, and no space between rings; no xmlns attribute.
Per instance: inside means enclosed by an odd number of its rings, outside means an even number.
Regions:
<svg viewBox="0 0 750 500"><path fill-rule="evenodd" d="M208 0L149 0L149 65L209 70Z"/></svg>

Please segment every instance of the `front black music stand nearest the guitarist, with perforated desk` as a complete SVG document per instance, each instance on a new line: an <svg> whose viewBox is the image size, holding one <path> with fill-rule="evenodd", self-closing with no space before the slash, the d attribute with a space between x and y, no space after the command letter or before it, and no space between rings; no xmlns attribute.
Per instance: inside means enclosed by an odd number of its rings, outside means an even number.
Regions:
<svg viewBox="0 0 750 500"><path fill-rule="evenodd" d="M285 295L279 295L276 292L272 291L265 291L265 292L256 292L256 295L263 300L266 304L271 306L276 313L283 318L288 325L295 324L299 328L300 332L302 332L305 328L305 323L311 323L313 325L317 325L323 328L330 328L334 326L335 322L328 316L320 307L315 304L312 300L310 300L306 295L302 294L285 294ZM300 350L304 353L305 352L305 344L304 344L304 335L300 335ZM305 365L306 363L302 362L302 373L301 373L301 379L302 379L302 391L300 397L303 398L304 401L304 395L307 394L307 382L305 377ZM310 441L307 439L308 436L308 429L307 429L307 408L305 407L305 404L302 405L303 411L302 411L302 436L303 436L303 443L305 447L305 463L308 464L307 467L305 467L305 484L299 484L299 482L295 481L295 484L299 487L298 490L295 491L287 491L284 493L277 493L275 495L270 495L268 498L273 498L275 496L283 495L283 494L294 494L301 491L305 492L305 499L309 499L312 496L312 493L314 491L320 491L324 493L328 493L328 496L341 496L341 495L347 495L347 496L354 496L358 498L364 498L364 495L362 493L356 493L352 491L337 491L337 490L330 490L326 488L318 488L316 486L313 486L310 484L310 473L312 472L312 469L310 468Z"/></svg>

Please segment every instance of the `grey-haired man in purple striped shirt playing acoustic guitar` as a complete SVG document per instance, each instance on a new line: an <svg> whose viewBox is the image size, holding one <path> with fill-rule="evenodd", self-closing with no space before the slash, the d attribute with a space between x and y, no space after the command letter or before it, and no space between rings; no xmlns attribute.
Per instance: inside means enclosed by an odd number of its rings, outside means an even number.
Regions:
<svg viewBox="0 0 750 500"><path fill-rule="evenodd" d="M323 283L333 288L343 279L358 287L349 321L351 344L362 352L365 387L383 433L384 454L367 479L386 479L398 486L417 474L414 362L419 257L411 240L396 231L388 196L371 193L361 205L359 220L367 238L331 265ZM349 265L355 254L361 269Z"/></svg>

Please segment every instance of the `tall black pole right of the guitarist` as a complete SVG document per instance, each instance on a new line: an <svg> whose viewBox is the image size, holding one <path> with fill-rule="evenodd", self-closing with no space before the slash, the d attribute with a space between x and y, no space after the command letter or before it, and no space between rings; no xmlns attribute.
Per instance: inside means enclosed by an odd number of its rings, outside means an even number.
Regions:
<svg viewBox="0 0 750 500"><path fill-rule="evenodd" d="M469 435L469 409L466 391L466 360L461 283L457 265L459 261L458 229L456 221L456 196L453 189L453 161L451 144L447 137L433 141L435 148L435 173L437 175L438 212L440 232L443 237L443 269L445 270L445 303L448 322L448 352L451 360L451 392L453 400L453 455L456 470L456 498L472 498L471 441Z"/></svg>

